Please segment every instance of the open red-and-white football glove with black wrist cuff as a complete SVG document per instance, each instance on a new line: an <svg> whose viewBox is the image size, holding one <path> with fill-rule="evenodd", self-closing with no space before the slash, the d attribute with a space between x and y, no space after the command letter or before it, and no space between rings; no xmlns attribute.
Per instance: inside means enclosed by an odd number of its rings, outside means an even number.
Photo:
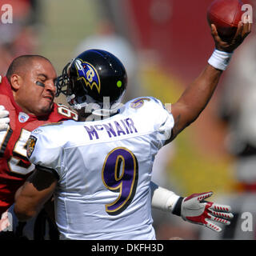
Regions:
<svg viewBox="0 0 256 256"><path fill-rule="evenodd" d="M207 202L204 199L210 198L213 192L191 194L187 198L180 198L174 206L174 214L194 224L199 224L220 232L222 228L213 222L230 225L234 215L230 213L230 206L218 205L214 202ZM213 221L213 222L211 222Z"/></svg>

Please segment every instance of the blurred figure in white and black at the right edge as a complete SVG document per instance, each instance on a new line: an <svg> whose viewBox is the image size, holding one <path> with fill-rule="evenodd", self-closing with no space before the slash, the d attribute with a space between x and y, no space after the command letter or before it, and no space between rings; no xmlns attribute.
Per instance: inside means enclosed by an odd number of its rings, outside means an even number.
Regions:
<svg viewBox="0 0 256 256"><path fill-rule="evenodd" d="M237 184L218 198L234 213L221 234L202 230L201 239L256 239L256 36L238 50L223 81L220 116L229 127L226 148L234 156ZM216 199L217 200L217 199Z"/></svg>

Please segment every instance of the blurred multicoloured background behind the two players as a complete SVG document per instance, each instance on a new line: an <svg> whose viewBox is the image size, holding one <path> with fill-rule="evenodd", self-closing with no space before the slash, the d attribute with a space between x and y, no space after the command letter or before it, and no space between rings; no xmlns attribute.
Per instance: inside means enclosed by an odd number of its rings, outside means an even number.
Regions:
<svg viewBox="0 0 256 256"><path fill-rule="evenodd" d="M214 50L206 22L210 2L0 0L0 7L9 3L13 8L13 23L0 22L0 74L21 54L42 54L61 74L70 59L98 48L126 66L126 100L150 95L163 103L176 102ZM252 0L246 3L254 5ZM214 191L212 200L232 207L232 225L215 234L154 210L158 239L256 238L255 46L253 28L206 110L159 151L153 170L153 181L177 194ZM66 103L61 96L56 102ZM252 218L245 231L246 212Z"/></svg>

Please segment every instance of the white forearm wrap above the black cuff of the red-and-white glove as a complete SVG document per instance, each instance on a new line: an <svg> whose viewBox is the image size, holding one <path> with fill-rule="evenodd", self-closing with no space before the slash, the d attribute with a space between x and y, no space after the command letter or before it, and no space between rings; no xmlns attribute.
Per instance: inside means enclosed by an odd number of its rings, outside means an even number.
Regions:
<svg viewBox="0 0 256 256"><path fill-rule="evenodd" d="M178 198L180 197L174 192L158 186L153 192L151 206L158 210L172 212L176 202L178 202Z"/></svg>

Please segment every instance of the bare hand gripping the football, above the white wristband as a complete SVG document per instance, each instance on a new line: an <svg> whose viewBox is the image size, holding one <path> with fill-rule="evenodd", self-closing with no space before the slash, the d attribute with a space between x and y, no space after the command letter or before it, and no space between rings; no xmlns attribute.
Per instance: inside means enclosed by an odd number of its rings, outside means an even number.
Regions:
<svg viewBox="0 0 256 256"><path fill-rule="evenodd" d="M218 31L214 24L211 24L211 34L214 38L215 48L217 50L222 50L227 53L232 53L235 49L238 48L243 42L243 40L250 34L251 23L242 23L239 22L237 33L234 35L234 38L230 42L222 41L222 38L218 36Z"/></svg>

